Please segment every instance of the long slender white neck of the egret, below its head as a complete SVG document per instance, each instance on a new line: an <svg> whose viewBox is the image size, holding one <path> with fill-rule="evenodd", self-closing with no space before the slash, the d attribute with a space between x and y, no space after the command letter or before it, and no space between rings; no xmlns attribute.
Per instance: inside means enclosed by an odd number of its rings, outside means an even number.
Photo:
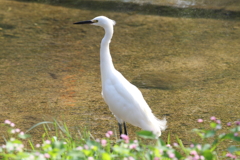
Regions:
<svg viewBox="0 0 240 160"><path fill-rule="evenodd" d="M102 81L106 79L114 70L112 57L109 50L109 44L113 35L113 26L105 27L104 30L105 35L102 39L100 48L100 67Z"/></svg>

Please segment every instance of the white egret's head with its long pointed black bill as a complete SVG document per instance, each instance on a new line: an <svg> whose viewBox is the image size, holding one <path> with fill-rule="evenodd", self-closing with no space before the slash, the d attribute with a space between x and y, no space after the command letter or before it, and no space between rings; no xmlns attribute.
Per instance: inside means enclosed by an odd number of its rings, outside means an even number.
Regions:
<svg viewBox="0 0 240 160"><path fill-rule="evenodd" d="M114 26L116 24L116 22L105 16L98 16L98 17L93 18L90 21L81 21L81 22L76 22L74 24L92 24L95 26L101 26L101 27L105 28L107 26Z"/></svg>

